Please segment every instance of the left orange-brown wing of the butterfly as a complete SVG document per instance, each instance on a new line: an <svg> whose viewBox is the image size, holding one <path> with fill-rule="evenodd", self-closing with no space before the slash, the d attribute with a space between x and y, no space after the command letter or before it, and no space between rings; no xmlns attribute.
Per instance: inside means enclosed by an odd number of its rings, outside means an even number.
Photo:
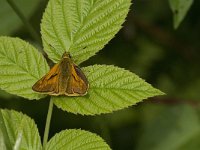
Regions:
<svg viewBox="0 0 200 150"><path fill-rule="evenodd" d="M36 92L59 95L59 75L59 64L56 64L44 77L42 77L33 85L32 89Z"/></svg>

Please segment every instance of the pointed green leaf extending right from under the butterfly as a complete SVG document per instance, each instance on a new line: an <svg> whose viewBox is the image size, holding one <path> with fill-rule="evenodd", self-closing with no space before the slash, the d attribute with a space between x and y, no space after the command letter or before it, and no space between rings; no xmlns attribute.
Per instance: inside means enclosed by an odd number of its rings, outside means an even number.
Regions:
<svg viewBox="0 0 200 150"><path fill-rule="evenodd" d="M83 68L90 87L83 97L52 97L63 110L82 115L110 113L163 93L137 75L114 66Z"/></svg>

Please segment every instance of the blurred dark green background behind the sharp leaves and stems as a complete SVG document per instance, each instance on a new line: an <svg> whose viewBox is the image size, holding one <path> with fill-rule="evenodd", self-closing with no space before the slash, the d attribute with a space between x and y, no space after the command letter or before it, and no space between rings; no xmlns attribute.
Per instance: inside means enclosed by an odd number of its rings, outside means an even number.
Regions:
<svg viewBox="0 0 200 150"><path fill-rule="evenodd" d="M15 0L40 33L47 0ZM81 128L103 137L115 150L200 149L200 1L194 0L178 29L167 0L135 0L124 27L96 56L81 64L128 69L167 95L100 116L81 116L54 107L50 137ZM22 21L0 0L0 36L20 37L42 49ZM0 108L34 118L43 135L48 98L28 101L0 91Z"/></svg>

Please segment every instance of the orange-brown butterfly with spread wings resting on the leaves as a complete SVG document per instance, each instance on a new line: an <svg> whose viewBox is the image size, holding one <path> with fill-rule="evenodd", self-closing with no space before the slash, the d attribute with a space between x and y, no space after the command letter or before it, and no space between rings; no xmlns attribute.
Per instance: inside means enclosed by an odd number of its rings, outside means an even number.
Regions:
<svg viewBox="0 0 200 150"><path fill-rule="evenodd" d="M65 52L59 63L38 80L32 87L36 92L49 95L84 96L89 87L82 70L74 64L70 54Z"/></svg>

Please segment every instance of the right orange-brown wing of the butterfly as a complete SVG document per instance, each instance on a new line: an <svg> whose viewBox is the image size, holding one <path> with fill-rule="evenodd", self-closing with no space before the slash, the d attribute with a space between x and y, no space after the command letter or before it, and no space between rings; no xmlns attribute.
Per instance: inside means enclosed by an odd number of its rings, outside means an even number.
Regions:
<svg viewBox="0 0 200 150"><path fill-rule="evenodd" d="M68 86L65 95L68 96L83 96L88 90L88 81L82 70L76 66L72 65L72 73L68 81Z"/></svg>

